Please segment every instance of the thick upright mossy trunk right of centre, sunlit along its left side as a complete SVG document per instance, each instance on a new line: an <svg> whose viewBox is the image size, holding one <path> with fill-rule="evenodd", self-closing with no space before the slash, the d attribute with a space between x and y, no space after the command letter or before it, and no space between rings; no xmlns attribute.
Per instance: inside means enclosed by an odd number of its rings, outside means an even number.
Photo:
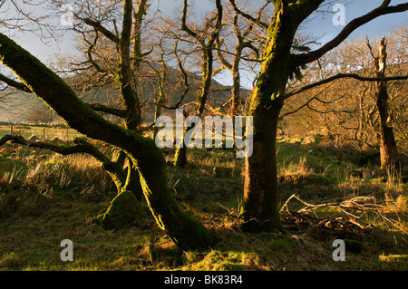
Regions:
<svg viewBox="0 0 408 289"><path fill-rule="evenodd" d="M278 209L277 122L289 75L296 69L290 50L297 27L322 1L304 1L291 6L277 2L274 2L274 19L267 28L267 43L249 108L249 115L253 117L254 148L246 160L240 226L251 233L284 230Z"/></svg>

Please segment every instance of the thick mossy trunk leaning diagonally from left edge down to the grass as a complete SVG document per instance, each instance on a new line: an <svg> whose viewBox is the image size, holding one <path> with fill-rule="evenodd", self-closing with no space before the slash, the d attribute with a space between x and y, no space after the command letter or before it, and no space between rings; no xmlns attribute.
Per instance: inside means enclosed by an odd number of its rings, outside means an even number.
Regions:
<svg viewBox="0 0 408 289"><path fill-rule="evenodd" d="M154 140L104 120L60 77L5 34L0 34L0 60L69 127L126 152L140 173L143 195L152 216L180 248L208 247L215 241L214 234L183 212L170 194L166 162Z"/></svg>

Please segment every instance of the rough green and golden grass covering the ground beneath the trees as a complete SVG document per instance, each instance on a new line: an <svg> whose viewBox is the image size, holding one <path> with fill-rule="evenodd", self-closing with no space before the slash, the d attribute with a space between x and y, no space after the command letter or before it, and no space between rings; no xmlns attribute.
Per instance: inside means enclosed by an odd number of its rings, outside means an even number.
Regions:
<svg viewBox="0 0 408 289"><path fill-rule="evenodd" d="M151 259L151 218L143 226L118 230L95 222L115 192L92 159L5 145L0 149L0 270L406 270L407 185L352 178L356 163L306 142L277 144L282 204L293 194L311 204L374 196L382 206L378 213L396 222L373 214L357 219L372 223L375 236L355 235L362 252L349 252L345 262L332 259L332 243L339 237L333 232L293 226L285 235L240 232L235 217L243 197L244 162L231 150L189 149L187 169L169 166L170 188L200 212L199 220L214 226L220 242L209 250L182 252L162 236ZM170 162L174 151L165 152ZM294 200L289 207L296 211L305 205ZM321 219L347 217L338 207L315 212L311 216ZM73 262L60 259L63 239L73 241Z"/></svg>

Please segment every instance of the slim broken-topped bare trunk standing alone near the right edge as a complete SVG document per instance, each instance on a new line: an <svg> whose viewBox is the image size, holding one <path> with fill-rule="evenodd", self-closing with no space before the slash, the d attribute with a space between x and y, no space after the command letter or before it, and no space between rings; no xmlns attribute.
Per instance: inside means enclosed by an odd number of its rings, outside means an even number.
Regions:
<svg viewBox="0 0 408 289"><path fill-rule="evenodd" d="M375 56L375 76L385 77L386 66L386 40L381 40L378 53ZM398 161L398 149L393 136L393 127L391 126L391 117L388 112L388 92L387 82L376 82L376 105L380 115L380 156L381 169L390 172L394 169Z"/></svg>

